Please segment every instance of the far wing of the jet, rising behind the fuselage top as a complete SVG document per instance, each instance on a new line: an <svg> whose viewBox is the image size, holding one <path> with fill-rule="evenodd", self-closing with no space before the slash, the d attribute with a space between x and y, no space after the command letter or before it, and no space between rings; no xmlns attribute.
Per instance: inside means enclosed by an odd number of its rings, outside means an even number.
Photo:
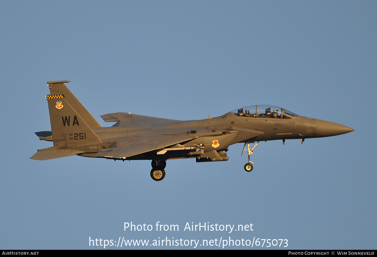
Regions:
<svg viewBox="0 0 377 257"><path fill-rule="evenodd" d="M119 122L117 123L119 127L159 126L169 123L180 122L180 120L162 119L156 117L136 115L131 113L109 113L101 115L101 118L105 122Z"/></svg>

